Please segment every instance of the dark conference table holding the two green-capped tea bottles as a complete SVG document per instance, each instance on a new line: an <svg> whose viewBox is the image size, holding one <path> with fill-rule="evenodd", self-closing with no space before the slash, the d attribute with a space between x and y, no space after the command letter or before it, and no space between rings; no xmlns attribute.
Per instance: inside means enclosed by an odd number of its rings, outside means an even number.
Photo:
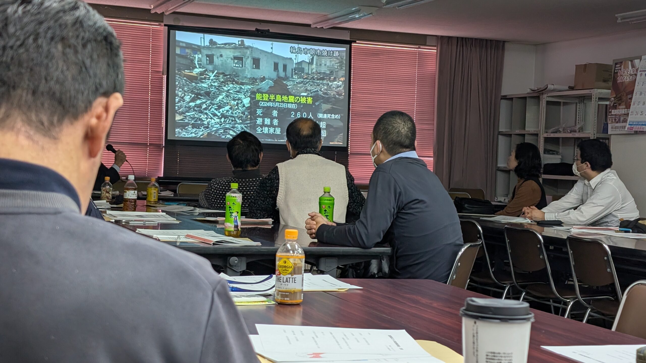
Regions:
<svg viewBox="0 0 646 363"><path fill-rule="evenodd" d="M120 208L112 208L120 211ZM148 207L143 200L137 201L138 212L161 212L160 209ZM196 220L205 216L224 216L224 213L172 213L164 212L180 223L160 223L158 225L127 225L121 224L122 227L136 231L137 229L203 229L205 231L215 231L224 234L222 223L209 223ZM303 221L305 222L305 221ZM247 269L248 262L260 260L272 260L278 252L278 248L285 243L285 230L298 230L298 244L305 252L307 264L315 266L318 270L326 274L333 274L337 267L341 265L352 264L355 262L364 262L379 259L381 256L390 256L391 250L388 246L373 247L371 249L362 249L358 247L345 247L339 245L322 244L309 238L304 228L291 227L282 224L266 224L245 227L242 225L240 238L249 238L249 240L260 242L260 246L254 245L199 245L189 242L166 242L176 247L199 254L207 258L213 265L224 267L224 272L229 276L239 276L242 271Z"/></svg>

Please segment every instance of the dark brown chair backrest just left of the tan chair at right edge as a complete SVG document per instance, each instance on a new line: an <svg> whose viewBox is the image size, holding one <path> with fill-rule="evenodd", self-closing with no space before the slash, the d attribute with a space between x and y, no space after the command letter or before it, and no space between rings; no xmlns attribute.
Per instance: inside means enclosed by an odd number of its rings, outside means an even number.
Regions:
<svg viewBox="0 0 646 363"><path fill-rule="evenodd" d="M577 288L578 281L589 286L614 284L614 290L621 300L621 289L608 246L594 238L573 235L567 236L566 242Z"/></svg>

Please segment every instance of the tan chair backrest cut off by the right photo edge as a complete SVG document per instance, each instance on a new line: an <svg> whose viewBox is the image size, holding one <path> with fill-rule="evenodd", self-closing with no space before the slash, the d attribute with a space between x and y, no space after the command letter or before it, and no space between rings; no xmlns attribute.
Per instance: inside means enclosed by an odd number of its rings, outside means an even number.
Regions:
<svg viewBox="0 0 646 363"><path fill-rule="evenodd" d="M646 339L646 280L635 282L623 293L612 330Z"/></svg>

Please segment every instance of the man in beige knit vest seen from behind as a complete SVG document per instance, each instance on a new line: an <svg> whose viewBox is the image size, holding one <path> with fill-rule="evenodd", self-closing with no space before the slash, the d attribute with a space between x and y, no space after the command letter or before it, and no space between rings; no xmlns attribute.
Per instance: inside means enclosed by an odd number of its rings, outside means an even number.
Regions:
<svg viewBox="0 0 646 363"><path fill-rule="evenodd" d="M297 118L286 130L291 160L278 163L260 182L249 205L251 218L273 218L281 224L303 227L307 214L318 210L323 187L335 198L334 221L357 218L366 199L348 169L320 156L321 129L309 118Z"/></svg>

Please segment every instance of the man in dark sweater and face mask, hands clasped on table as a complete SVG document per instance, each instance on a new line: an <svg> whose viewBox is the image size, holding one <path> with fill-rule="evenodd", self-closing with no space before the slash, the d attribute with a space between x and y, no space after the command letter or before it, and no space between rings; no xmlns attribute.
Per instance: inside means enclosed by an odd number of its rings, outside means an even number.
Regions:
<svg viewBox="0 0 646 363"><path fill-rule="evenodd" d="M331 225L318 213L307 234L328 244L393 251L391 278L446 282L463 247L460 221L448 192L415 152L415 122L401 111L383 114L372 131L375 172L357 223Z"/></svg>

